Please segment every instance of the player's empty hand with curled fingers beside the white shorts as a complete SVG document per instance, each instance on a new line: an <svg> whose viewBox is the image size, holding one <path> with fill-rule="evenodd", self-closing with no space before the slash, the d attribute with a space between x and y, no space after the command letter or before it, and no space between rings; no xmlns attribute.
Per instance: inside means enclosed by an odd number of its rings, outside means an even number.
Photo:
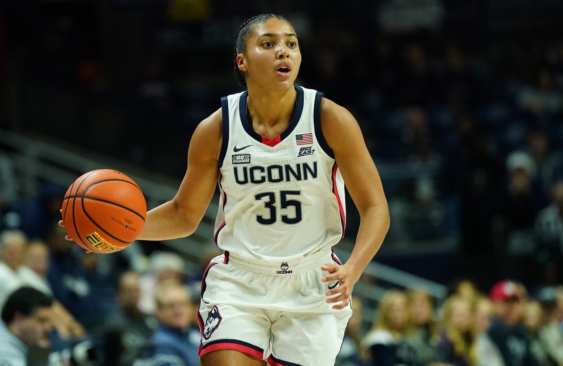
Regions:
<svg viewBox="0 0 563 366"><path fill-rule="evenodd" d="M352 290L358 281L352 268L347 267L346 264L326 263L320 269L328 272L326 276L321 278L321 281L338 281L338 286L324 293L328 297L327 303L334 304L333 309L343 309L348 306Z"/></svg>

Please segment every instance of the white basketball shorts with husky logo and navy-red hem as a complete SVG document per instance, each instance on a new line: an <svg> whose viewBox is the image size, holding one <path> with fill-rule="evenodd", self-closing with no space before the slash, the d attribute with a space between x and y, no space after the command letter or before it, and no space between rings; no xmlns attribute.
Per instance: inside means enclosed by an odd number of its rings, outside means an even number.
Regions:
<svg viewBox="0 0 563 366"><path fill-rule="evenodd" d="M272 366L333 365L351 306L327 304L325 263L341 264L332 250L305 258L257 262L226 252L213 258L202 281L199 355L231 349Z"/></svg>

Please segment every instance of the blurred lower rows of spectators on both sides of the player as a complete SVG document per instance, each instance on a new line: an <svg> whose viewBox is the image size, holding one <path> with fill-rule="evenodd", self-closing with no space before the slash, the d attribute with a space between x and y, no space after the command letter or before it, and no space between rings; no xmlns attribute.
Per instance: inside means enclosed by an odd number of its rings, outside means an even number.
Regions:
<svg viewBox="0 0 563 366"><path fill-rule="evenodd" d="M50 345L33 348L30 364L199 364L203 267L186 273L177 253L146 255L139 243L87 254L64 234L56 222L44 240L16 229L0 234L0 304L23 286L55 299ZM391 287L368 331L362 300L353 296L352 308L337 366L563 365L563 285L530 292L502 280L482 290L462 278L444 299L415 284Z"/></svg>

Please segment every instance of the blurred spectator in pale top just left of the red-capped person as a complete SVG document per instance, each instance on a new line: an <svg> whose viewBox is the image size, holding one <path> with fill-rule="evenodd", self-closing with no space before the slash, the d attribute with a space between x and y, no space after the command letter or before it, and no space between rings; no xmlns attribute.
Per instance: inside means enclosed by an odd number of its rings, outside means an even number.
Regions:
<svg viewBox="0 0 563 366"><path fill-rule="evenodd" d="M476 366L506 366L501 352L488 333L493 313L491 300L487 296L476 296L474 318Z"/></svg>

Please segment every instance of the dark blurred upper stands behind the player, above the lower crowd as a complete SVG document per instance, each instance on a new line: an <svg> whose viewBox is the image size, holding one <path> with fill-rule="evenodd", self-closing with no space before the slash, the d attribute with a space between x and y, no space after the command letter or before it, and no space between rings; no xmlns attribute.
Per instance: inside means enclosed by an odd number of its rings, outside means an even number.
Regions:
<svg viewBox="0 0 563 366"><path fill-rule="evenodd" d="M559 0L4 0L0 228L46 238L51 198L96 168L136 179L149 208L172 198L195 126L241 90L234 34L261 12L293 22L298 83L352 112L381 174L391 228L368 305L383 273L439 300L460 278L563 283ZM166 248L196 263L215 213Z"/></svg>

